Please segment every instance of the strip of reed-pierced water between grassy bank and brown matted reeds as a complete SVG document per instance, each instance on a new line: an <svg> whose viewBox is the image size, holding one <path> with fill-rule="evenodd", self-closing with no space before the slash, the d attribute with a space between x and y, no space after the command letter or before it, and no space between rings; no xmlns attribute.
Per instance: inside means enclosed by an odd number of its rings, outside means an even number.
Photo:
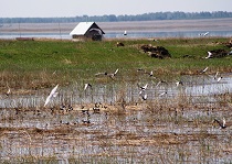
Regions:
<svg viewBox="0 0 232 164"><path fill-rule="evenodd" d="M148 81L146 89L147 100L175 99L181 96L191 97L191 100L197 102L199 98L207 102L217 101L214 95L223 95L232 92L232 76L231 74L222 75L222 79L217 81L208 75L200 76L182 76L180 79L183 86L176 85L176 81L160 84L158 81ZM145 85L145 84L140 84ZM158 86L157 86L158 85ZM93 90L83 90L80 84L74 84L66 88L59 88L57 98L52 99L50 106L59 106L65 101L71 105L75 103L115 103L122 92L125 95L126 102L138 102L140 100L139 88L137 84L94 84ZM160 96L162 92L167 92ZM45 94L45 95L44 95ZM42 107L44 105L49 90L38 91L34 95L11 95L9 97L1 95L0 108L29 108ZM203 99L202 99L203 98Z"/></svg>

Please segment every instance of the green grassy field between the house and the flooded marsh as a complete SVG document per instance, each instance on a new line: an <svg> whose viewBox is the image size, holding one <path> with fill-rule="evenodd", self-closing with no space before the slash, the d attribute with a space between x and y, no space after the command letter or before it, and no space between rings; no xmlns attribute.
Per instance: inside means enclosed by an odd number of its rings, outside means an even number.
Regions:
<svg viewBox="0 0 232 164"><path fill-rule="evenodd" d="M224 48L229 39L162 39L120 41L124 47L116 46L116 40L103 42L71 41L0 41L1 85L13 87L36 87L51 84L71 83L76 79L92 79L98 72L115 72L119 68L120 79L133 75L136 69L154 70L156 76L173 77L181 74L196 74L209 66L209 73L232 70L231 56L205 59L208 51ZM171 58L151 58L141 53L140 45L152 44L166 47ZM188 55L188 57L183 57ZM55 73L55 76L53 76ZM130 76L131 77L131 76ZM12 79L12 80L11 80ZM35 83L36 81L36 83ZM22 85L21 83L24 83Z"/></svg>

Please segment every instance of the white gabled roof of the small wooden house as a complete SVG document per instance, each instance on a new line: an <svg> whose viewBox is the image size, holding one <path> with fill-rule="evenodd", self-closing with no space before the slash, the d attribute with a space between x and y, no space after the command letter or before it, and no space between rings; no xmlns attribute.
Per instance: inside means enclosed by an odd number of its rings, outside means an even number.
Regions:
<svg viewBox="0 0 232 164"><path fill-rule="evenodd" d="M73 31L70 33L70 35L84 35L92 25L96 25L98 28L98 25L95 22L80 22L74 29ZM99 28L98 28L99 29ZM101 29L99 29L101 30ZM102 30L101 30L102 31ZM104 34L104 32L102 31L102 33Z"/></svg>

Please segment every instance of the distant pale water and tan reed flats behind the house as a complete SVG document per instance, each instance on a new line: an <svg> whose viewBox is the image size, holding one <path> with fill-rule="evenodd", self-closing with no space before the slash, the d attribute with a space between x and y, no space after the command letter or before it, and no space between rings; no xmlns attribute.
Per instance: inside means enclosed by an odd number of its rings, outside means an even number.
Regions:
<svg viewBox="0 0 232 164"><path fill-rule="evenodd" d="M106 33L105 39L152 39L232 36L232 19L168 20L141 22L96 22ZM78 22L77 22L78 23ZM46 37L71 40L70 32L77 23L8 23L1 24L0 39ZM124 36L124 32L127 35Z"/></svg>

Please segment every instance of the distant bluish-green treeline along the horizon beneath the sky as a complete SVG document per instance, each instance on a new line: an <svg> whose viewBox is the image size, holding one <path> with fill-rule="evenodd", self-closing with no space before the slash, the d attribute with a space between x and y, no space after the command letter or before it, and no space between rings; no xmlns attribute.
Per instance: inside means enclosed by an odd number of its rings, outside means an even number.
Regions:
<svg viewBox="0 0 232 164"><path fill-rule="evenodd" d="M68 22L120 22L120 21L154 21L154 20L193 20L232 18L232 12L152 12L136 15L82 15L73 18L0 18L0 23L68 23Z"/></svg>

